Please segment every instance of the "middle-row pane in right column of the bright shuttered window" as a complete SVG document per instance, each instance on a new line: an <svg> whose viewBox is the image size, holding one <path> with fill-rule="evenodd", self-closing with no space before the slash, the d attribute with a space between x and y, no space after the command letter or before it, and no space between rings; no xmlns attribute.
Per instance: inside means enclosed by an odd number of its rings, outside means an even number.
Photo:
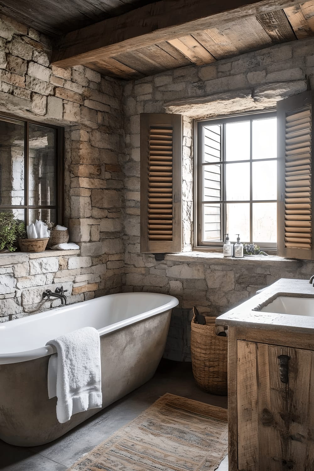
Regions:
<svg viewBox="0 0 314 471"><path fill-rule="evenodd" d="M252 163L253 200L277 199L277 161Z"/></svg>

